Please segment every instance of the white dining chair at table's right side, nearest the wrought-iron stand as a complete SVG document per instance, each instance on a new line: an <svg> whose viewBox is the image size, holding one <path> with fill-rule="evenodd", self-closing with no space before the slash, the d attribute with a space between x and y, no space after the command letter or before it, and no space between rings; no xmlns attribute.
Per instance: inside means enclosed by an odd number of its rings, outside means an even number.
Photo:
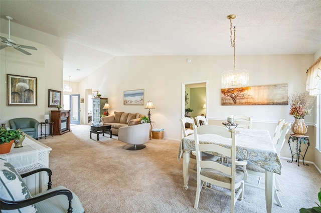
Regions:
<svg viewBox="0 0 321 213"><path fill-rule="evenodd" d="M279 133L277 142L276 142L276 144L274 146L275 149L276 149L277 154L280 154L281 148L282 148L282 146L284 144L284 141L285 141L285 135L288 133L290 128L291 128L291 124L289 122L283 123L282 128L280 129L280 133ZM260 187L259 184L260 184L261 178L264 178L264 176L265 176L265 169L255 165L254 163L252 163L250 161L248 161L248 163L246 165L246 169L247 169L248 174L252 174L252 175L258 176L259 180L258 180L258 183L256 185L250 184L248 182L246 182L245 184L249 185L249 186L252 186L252 187L264 189L264 187ZM276 181L277 180L275 178L275 182ZM281 203L281 201L280 201L280 199L278 197L278 194L277 194L277 186L276 186L276 184L275 184L275 187L274 187L274 198L275 198L275 200L277 202L277 205L280 206L280 207L283 207L283 205L282 205L282 203Z"/></svg>

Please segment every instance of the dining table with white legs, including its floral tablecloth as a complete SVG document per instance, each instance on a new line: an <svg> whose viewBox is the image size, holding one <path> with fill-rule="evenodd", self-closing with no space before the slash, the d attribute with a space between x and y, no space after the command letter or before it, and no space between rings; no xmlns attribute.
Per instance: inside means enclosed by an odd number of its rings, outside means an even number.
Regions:
<svg viewBox="0 0 321 213"><path fill-rule="evenodd" d="M199 134L200 143L214 143L231 148L231 138L217 134ZM236 157L248 160L265 169L266 212L272 212L275 174L281 174L282 163L266 129L237 128ZM194 134L183 137L178 151L178 161L183 156L184 188L188 189L190 152L195 150ZM215 153L213 153L215 154Z"/></svg>

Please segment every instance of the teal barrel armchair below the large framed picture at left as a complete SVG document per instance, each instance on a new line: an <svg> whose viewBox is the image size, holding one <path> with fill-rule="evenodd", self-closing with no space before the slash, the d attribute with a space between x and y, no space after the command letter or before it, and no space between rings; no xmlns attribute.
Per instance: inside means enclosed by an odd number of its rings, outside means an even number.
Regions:
<svg viewBox="0 0 321 213"><path fill-rule="evenodd" d="M9 120L10 128L20 128L26 134L38 139L38 120L30 117L19 117Z"/></svg>

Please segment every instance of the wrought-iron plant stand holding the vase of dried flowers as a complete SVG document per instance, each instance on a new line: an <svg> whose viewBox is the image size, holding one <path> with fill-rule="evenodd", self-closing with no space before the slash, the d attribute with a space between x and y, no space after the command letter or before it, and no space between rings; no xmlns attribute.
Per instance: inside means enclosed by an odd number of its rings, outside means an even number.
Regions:
<svg viewBox="0 0 321 213"><path fill-rule="evenodd" d="M293 142L293 143L296 142L296 151L294 151L294 150L292 151L291 142ZM303 150L301 150L301 143L302 142L305 143L305 149L303 149ZM288 143L289 143L289 147L290 147L290 151L291 151L291 155L292 155L292 160L291 161L288 160L287 162L293 162L293 156L296 155L295 162L297 162L297 166L300 166L299 160L300 160L300 155L301 155L303 165L309 165L307 163L304 164L304 157L305 157L306 151L310 145L309 136L290 134ZM301 151L305 151L304 155L301 154Z"/></svg>

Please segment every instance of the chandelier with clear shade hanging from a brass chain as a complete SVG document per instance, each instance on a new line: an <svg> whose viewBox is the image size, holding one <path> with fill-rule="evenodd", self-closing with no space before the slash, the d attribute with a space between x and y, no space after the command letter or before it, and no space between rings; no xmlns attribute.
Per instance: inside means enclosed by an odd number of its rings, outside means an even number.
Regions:
<svg viewBox="0 0 321 213"><path fill-rule="evenodd" d="M232 39L232 19L236 17L234 14L226 16L230 19L231 46L234 47L234 67L233 70L226 70L222 73L222 88L243 87L249 84L249 72L246 69L235 69L235 26L234 38Z"/></svg>

